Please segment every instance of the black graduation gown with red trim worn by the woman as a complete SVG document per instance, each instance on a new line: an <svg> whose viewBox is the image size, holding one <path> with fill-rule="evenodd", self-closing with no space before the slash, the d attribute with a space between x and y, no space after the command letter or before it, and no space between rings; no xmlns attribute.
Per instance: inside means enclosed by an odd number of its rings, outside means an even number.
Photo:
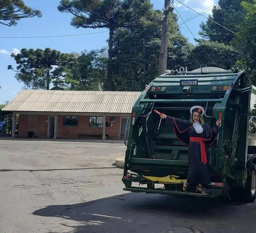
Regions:
<svg viewBox="0 0 256 233"><path fill-rule="evenodd" d="M210 183L210 174L208 171L208 161L210 157L209 146L211 146L218 135L219 127L214 124L210 127L207 123L202 125L203 133L196 133L193 124L190 121L169 117L166 118L166 123L172 125L176 137L185 145L188 146L188 184L208 184ZM200 142L193 141L192 137L196 137L198 141L204 143L207 162L202 162ZM203 153L203 154L205 154Z"/></svg>

